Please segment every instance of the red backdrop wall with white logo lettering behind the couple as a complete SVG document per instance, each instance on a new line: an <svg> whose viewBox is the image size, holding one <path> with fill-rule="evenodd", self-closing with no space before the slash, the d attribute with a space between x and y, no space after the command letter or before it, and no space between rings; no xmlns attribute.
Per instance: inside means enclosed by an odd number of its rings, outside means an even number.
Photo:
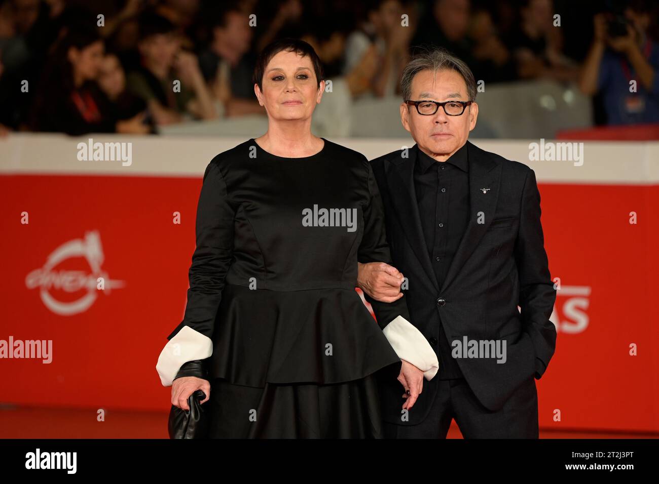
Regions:
<svg viewBox="0 0 659 484"><path fill-rule="evenodd" d="M51 363L0 360L1 402L169 408L155 365L183 317L200 186L200 177L0 176L0 339L53 341ZM536 381L540 426L659 431L659 187L542 183L540 194L561 280L557 351Z"/></svg>

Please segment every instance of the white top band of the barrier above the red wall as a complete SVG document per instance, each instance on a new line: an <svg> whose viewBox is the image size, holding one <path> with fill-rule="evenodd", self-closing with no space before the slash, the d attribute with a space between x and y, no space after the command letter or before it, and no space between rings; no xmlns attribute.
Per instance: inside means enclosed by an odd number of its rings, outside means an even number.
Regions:
<svg viewBox="0 0 659 484"><path fill-rule="evenodd" d="M258 137L260 133L252 136ZM92 144L129 144L130 163L79 160L78 155L83 148L78 147L89 146L90 139ZM414 146L412 138L329 139L363 153L368 159L405 146ZM63 134L13 133L0 140L0 174L201 176L217 153L245 140L211 136L90 134L70 137ZM486 151L529 165L536 172L539 182L639 185L659 182L659 142L473 140L473 143ZM534 144L537 145L535 150ZM550 154L552 149L553 160L542 155ZM542 151L541 156L532 159L538 150ZM570 152L571 159L563 159L565 153Z"/></svg>

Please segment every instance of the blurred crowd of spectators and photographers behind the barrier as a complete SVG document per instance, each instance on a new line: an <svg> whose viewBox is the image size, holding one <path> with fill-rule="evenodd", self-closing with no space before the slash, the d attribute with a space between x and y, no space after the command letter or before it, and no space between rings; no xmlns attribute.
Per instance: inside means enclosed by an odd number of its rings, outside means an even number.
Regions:
<svg viewBox="0 0 659 484"><path fill-rule="evenodd" d="M399 95L415 50L436 45L485 84L575 83L598 124L659 122L657 18L643 0L0 0L0 131L264 114L254 61L281 37L310 43L353 99Z"/></svg>

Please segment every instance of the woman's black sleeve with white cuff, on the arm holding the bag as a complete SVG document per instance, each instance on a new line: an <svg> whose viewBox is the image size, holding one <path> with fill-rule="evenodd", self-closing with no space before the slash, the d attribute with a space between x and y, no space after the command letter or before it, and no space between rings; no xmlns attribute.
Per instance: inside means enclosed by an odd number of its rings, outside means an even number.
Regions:
<svg viewBox="0 0 659 484"><path fill-rule="evenodd" d="M183 321L167 336L156 370L168 387L186 362L206 360L213 352L215 316L233 255L233 220L227 186L213 161L206 167L196 213L196 248L188 272ZM199 375L201 376L201 375Z"/></svg>

